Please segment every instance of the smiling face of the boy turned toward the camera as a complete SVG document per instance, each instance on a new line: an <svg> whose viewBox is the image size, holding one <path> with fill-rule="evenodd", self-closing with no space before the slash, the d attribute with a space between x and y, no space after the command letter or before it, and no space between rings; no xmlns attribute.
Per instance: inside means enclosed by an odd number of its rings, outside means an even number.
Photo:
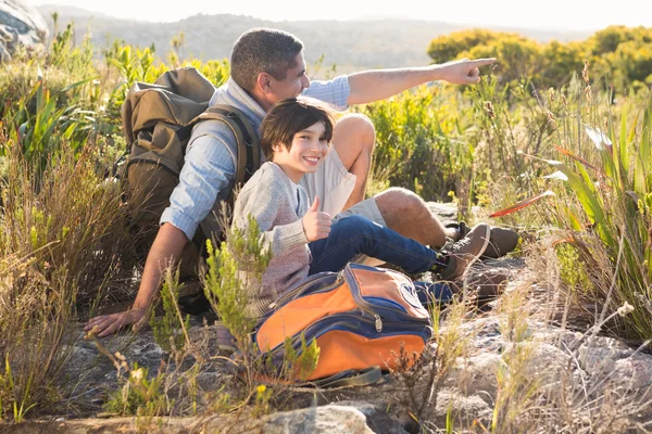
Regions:
<svg viewBox="0 0 652 434"><path fill-rule="evenodd" d="M324 124L316 123L297 132L289 150L281 143L275 144L272 161L280 166L293 182L299 182L303 174L317 171L328 154L328 142L324 139L325 131Z"/></svg>

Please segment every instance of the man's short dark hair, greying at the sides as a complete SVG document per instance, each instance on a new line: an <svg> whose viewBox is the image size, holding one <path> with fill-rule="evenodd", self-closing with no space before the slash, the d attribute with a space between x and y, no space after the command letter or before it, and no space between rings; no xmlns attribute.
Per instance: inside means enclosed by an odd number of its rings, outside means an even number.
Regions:
<svg viewBox="0 0 652 434"><path fill-rule="evenodd" d="M259 74L271 74L277 80L286 78L297 66L297 54L303 50L293 35L273 28L252 28L243 33L231 51L230 75L242 89L253 91Z"/></svg>

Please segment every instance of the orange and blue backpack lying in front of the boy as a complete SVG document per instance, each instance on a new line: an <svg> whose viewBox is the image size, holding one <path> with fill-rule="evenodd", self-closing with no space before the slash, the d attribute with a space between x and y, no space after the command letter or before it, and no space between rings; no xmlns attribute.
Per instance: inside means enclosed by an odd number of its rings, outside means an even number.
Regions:
<svg viewBox="0 0 652 434"><path fill-rule="evenodd" d="M421 355L432 335L430 314L414 283L390 269L348 264L337 273L321 272L272 307L256 324L258 347L280 361L287 337L299 353L302 334L308 344L316 340L319 358L305 380L323 386L373 383L381 370L397 368L402 347L409 355ZM347 381L359 372L366 374L364 383L360 375L358 382Z"/></svg>

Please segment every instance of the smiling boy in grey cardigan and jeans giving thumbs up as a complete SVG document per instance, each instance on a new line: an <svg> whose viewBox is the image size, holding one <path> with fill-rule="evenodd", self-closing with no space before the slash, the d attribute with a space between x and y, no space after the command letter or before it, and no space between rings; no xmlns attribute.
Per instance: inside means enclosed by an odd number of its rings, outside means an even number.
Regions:
<svg viewBox="0 0 652 434"><path fill-rule="evenodd" d="M406 272L434 271L455 279L487 248L490 228L481 224L441 254L361 216L331 224L318 212L319 197L309 204L299 186L304 174L315 173L329 150L333 118L318 102L305 98L280 101L261 125L261 149L267 163L238 195L234 225L247 227L251 214L273 258L262 278L262 293L252 297L249 314L260 317L276 297L310 275L339 271L365 254L402 267Z"/></svg>

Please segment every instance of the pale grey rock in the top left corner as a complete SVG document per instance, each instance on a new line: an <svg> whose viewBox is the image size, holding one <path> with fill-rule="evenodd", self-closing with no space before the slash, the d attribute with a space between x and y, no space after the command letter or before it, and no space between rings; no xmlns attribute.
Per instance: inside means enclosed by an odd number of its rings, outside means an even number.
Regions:
<svg viewBox="0 0 652 434"><path fill-rule="evenodd" d="M0 62L11 60L18 46L35 48L48 38L41 14L23 0L0 0Z"/></svg>

